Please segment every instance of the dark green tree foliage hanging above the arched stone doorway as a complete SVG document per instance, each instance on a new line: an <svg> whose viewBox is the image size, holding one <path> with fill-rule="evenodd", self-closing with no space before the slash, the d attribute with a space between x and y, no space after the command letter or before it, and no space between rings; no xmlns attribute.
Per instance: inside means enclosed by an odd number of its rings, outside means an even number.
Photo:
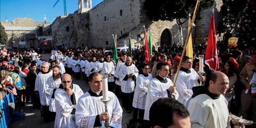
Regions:
<svg viewBox="0 0 256 128"><path fill-rule="evenodd" d="M145 0L144 8L149 19L170 20L176 19L177 24L182 26L188 19L189 13L193 15L197 0ZM213 6L214 0L201 0L196 19L201 19L205 9ZM180 19L186 19L181 22Z"/></svg>

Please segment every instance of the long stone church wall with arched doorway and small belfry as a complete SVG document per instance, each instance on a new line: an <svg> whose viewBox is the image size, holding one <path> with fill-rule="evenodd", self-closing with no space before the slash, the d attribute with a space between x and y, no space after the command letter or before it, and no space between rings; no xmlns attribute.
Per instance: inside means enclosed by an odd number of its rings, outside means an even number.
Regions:
<svg viewBox="0 0 256 128"><path fill-rule="evenodd" d="M143 9L145 0L104 0L91 8L91 0L79 0L79 9L68 16L59 16L52 23L52 38L55 44L65 47L112 47L112 34L117 35L117 47L128 46L129 33L133 46L144 45L143 25L147 34L151 30L154 46L181 43L176 21L151 22ZM84 3L81 4L81 3ZM89 6L90 5L90 6ZM221 15L222 0L215 0L215 26ZM196 21L192 31L193 43L206 43L211 20L211 10ZM186 41L187 23L183 24L183 42ZM138 40L138 35L141 39Z"/></svg>

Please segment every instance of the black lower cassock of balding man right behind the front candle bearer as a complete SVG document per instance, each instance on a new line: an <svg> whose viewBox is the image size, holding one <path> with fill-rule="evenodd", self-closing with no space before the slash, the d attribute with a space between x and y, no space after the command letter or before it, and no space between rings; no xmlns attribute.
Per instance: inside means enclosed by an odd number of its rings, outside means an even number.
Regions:
<svg viewBox="0 0 256 128"><path fill-rule="evenodd" d="M131 111L132 101L133 101L134 92L132 93L123 93L122 92L122 107L127 111Z"/></svg>

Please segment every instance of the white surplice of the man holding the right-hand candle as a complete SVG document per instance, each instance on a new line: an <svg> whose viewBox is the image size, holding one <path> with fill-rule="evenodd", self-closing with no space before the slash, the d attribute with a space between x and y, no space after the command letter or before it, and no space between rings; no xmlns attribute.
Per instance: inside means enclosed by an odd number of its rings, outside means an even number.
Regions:
<svg viewBox="0 0 256 128"><path fill-rule="evenodd" d="M199 86L199 75L193 68L190 68L191 73L186 73L180 70L176 82L176 90L179 93L177 101L182 103L186 108L189 105L189 100L193 95L192 87Z"/></svg>

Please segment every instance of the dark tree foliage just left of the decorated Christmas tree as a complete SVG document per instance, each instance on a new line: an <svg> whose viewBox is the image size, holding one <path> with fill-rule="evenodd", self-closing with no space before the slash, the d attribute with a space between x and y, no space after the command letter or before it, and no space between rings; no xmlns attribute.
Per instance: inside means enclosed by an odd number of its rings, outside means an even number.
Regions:
<svg viewBox="0 0 256 128"><path fill-rule="evenodd" d="M233 29L239 24L246 0L222 0L222 20L218 23L217 33L224 33L227 29Z"/></svg>

